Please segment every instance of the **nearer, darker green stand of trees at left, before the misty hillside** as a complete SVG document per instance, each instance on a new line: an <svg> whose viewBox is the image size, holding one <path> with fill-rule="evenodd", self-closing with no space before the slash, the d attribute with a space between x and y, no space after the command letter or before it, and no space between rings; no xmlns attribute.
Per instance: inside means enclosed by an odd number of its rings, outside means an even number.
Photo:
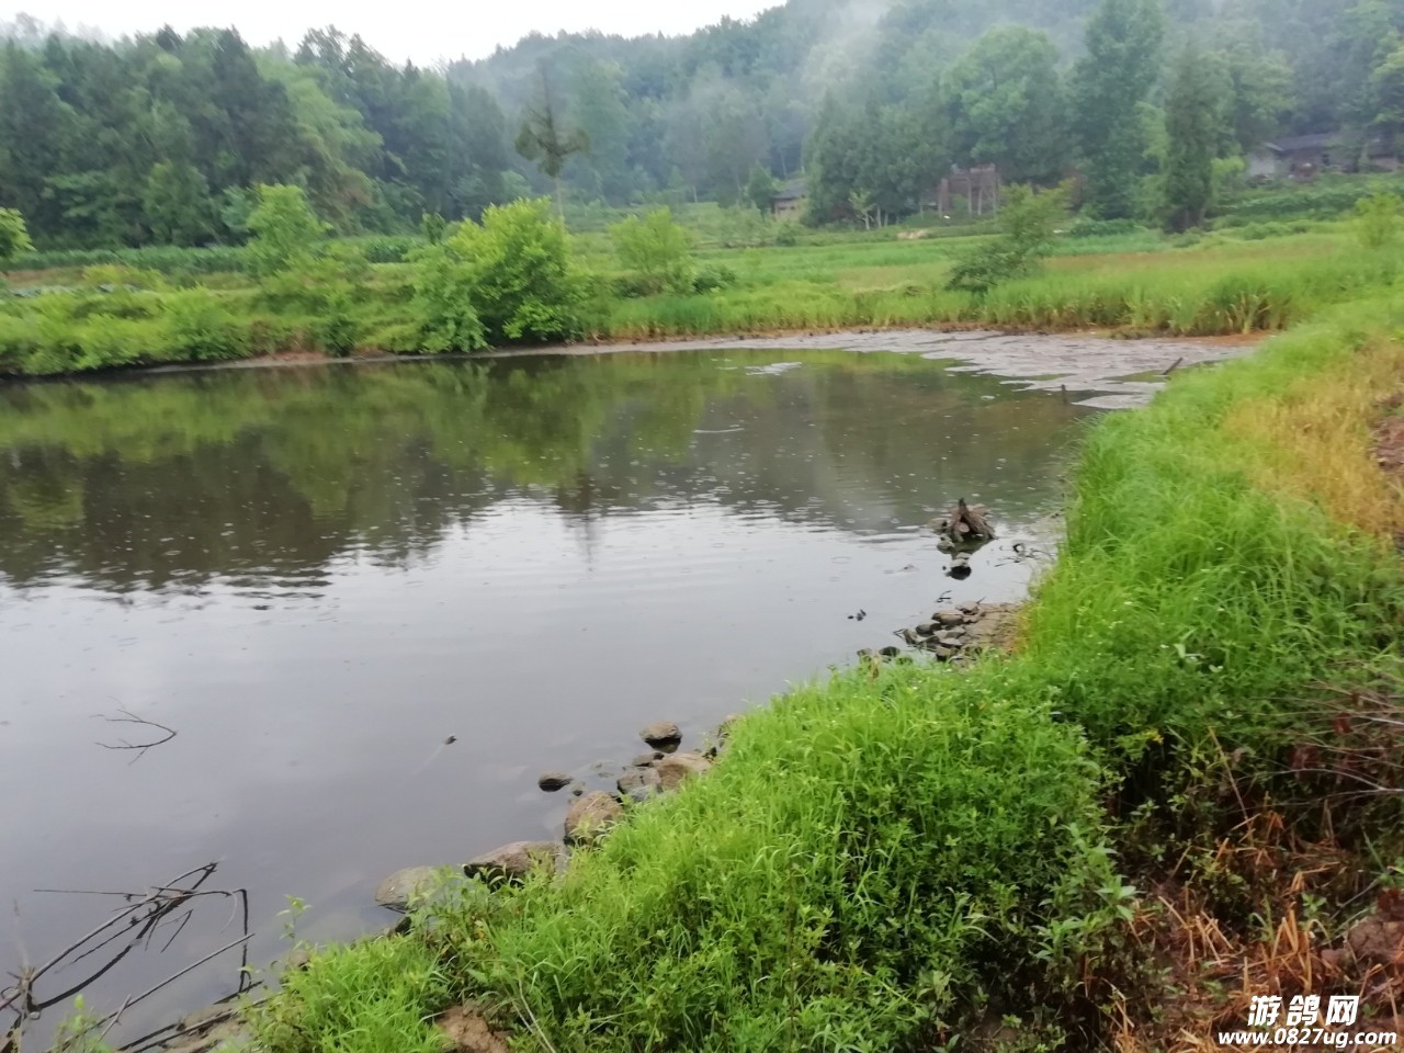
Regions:
<svg viewBox="0 0 1404 1053"><path fill-rule="evenodd" d="M479 215L528 191L480 87L358 38L254 51L233 29L0 49L0 205L41 246L243 240L258 184L296 184L340 233Z"/></svg>

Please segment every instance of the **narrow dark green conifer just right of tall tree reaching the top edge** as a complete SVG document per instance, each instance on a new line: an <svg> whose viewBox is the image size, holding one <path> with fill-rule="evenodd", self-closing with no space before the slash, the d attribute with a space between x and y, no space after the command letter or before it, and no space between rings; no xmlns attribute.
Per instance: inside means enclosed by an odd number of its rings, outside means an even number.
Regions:
<svg viewBox="0 0 1404 1053"><path fill-rule="evenodd" d="M1165 100L1165 222L1188 230L1205 220L1213 198L1214 147L1220 140L1220 98L1212 67L1193 46L1175 65Z"/></svg>

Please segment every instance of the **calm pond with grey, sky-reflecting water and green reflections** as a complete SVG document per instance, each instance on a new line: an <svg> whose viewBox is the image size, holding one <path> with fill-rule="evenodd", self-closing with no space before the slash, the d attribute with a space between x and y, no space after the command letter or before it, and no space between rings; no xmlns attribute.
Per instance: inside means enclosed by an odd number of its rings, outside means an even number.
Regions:
<svg viewBox="0 0 1404 1053"><path fill-rule="evenodd" d="M350 938L393 920L395 869L559 837L543 769L609 786L647 722L696 744L938 601L1016 598L1038 563L1012 546L1052 548L1095 410L949 365L706 348L0 389L0 969L101 924L98 893L215 863L253 935L129 1009L139 1032L232 991L244 948L282 953L288 897L299 936ZM955 581L925 524L959 497L1000 539ZM90 1008L244 935L240 899L195 906Z"/></svg>

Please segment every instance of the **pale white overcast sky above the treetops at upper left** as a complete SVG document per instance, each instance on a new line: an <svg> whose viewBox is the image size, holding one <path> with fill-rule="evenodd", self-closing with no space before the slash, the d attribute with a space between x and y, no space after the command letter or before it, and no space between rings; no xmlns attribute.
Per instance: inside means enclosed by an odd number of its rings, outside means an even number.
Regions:
<svg viewBox="0 0 1404 1053"><path fill-rule="evenodd" d="M0 21L20 11L70 29L87 25L110 37L152 32L170 24L178 31L194 25L234 25L250 44L279 37L296 45L309 27L336 25L361 34L388 58L418 65L468 56L477 59L503 44L511 45L532 29L553 35L560 29L600 29L636 37L681 34L719 21L723 15L750 18L781 0L29 0L11 6L0 0Z"/></svg>

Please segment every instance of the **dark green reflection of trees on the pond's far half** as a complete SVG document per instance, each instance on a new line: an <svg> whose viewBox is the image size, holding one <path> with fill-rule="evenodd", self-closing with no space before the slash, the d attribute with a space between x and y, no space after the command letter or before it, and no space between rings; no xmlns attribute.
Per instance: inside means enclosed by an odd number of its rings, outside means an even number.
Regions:
<svg viewBox="0 0 1404 1053"><path fill-rule="evenodd" d="M911 355L630 354L229 371L0 392L0 573L110 588L399 562L510 494L706 500L868 529L1046 503L1077 410ZM990 396L994 396L993 399ZM740 431L730 430L741 425ZM701 431L701 434L698 434ZM945 459L942 459L945 458Z"/></svg>

